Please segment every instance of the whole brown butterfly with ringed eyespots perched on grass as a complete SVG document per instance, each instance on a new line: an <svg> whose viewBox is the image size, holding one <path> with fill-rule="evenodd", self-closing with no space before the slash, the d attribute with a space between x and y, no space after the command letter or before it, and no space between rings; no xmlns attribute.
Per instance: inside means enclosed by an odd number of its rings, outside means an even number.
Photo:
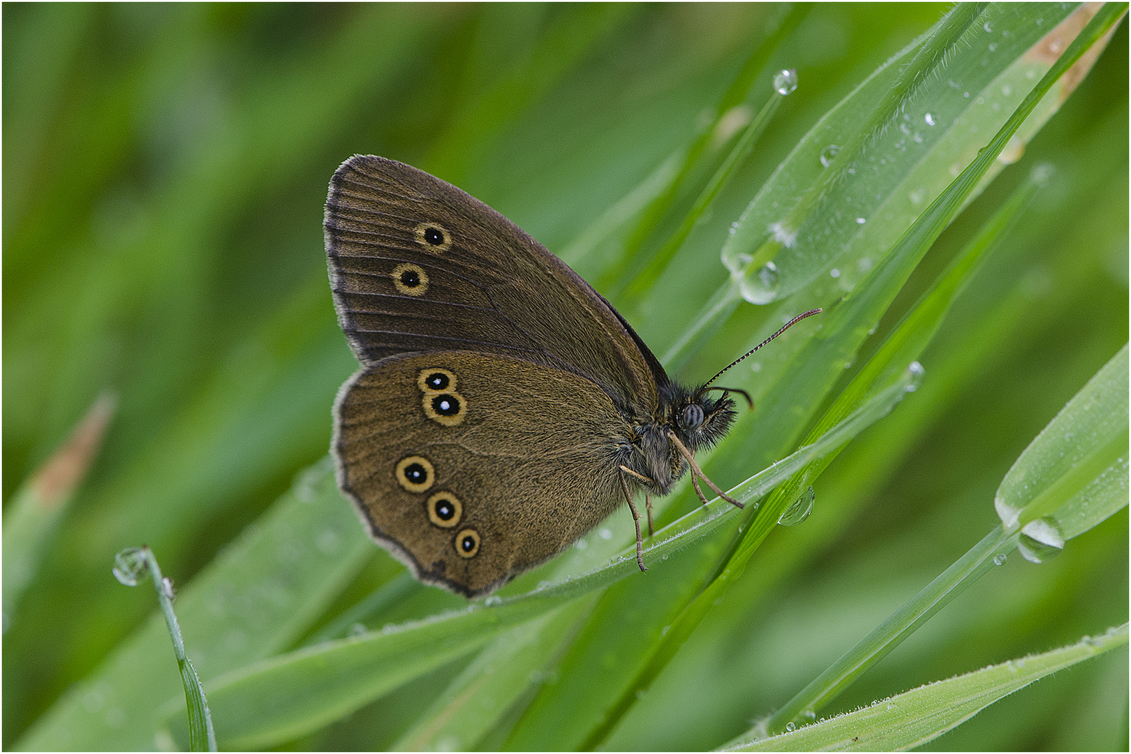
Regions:
<svg viewBox="0 0 1131 754"><path fill-rule="evenodd" d="M650 530L650 494L689 469L703 502L698 478L741 508L694 461L734 421L727 389L672 382L601 294L506 217L355 156L334 174L325 227L362 364L334 407L338 485L417 579L483 595L622 502L645 570L632 495L644 489Z"/></svg>

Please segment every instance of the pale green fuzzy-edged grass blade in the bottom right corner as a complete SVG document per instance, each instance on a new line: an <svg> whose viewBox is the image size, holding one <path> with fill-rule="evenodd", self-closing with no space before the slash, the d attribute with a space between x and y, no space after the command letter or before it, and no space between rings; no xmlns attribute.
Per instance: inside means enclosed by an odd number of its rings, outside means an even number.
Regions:
<svg viewBox="0 0 1131 754"><path fill-rule="evenodd" d="M757 742L732 742L732 752L892 752L925 744L998 700L1052 673L1128 643L1128 624L1041 655L1008 660Z"/></svg>

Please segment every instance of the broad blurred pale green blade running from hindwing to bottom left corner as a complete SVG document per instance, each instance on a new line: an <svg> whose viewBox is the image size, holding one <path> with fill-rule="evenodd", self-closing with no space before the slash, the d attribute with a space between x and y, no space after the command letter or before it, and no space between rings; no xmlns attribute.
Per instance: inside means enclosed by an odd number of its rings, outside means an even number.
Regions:
<svg viewBox="0 0 1131 754"><path fill-rule="evenodd" d="M181 590L184 644L209 687L216 676L286 648L372 556L373 544L338 493L328 461L304 474ZM175 668L155 661L167 652L167 641L164 622L153 616L63 694L15 748L157 747L163 705L181 686Z"/></svg>

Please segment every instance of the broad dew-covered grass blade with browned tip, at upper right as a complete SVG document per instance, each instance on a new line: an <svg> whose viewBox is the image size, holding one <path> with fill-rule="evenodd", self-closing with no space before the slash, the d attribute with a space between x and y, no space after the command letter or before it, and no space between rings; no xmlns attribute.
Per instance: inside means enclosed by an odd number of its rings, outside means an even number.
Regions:
<svg viewBox="0 0 1131 754"><path fill-rule="evenodd" d="M723 248L723 261L732 278L716 291L692 326L670 347L665 364L677 367L690 358L735 311L743 296L753 303L767 303L805 291L802 309L808 309L828 305L858 285L882 252L947 188L956 174L952 171L974 159L985 145L979 133L996 130L1033 80L1048 70L1052 60L1039 43L1048 25L1060 21L1070 10L1052 6L991 6L978 16L977 24L968 26L962 44L953 54L941 60L933 54L932 51L947 50L956 43L953 34L943 34L939 26L931 36L924 35L908 45L845 96L810 129L743 211ZM966 16L951 16L955 27L951 32L967 28L962 26L965 20ZM1008 41L1004 36L999 38L1007 33ZM929 41L933 46L924 51ZM988 53L973 53L988 46L993 47ZM936 73L917 76L910 68L916 55L923 70L938 69ZM908 72L900 79L904 69ZM884 111L877 103L889 107L898 104L910 95L912 86L916 87L914 104L903 113L901 122L878 132L878 124L887 123L892 111ZM1072 87L1074 81L1059 83L1056 95L1041 103L1019 130L1018 142L1011 146L1012 158ZM926 122L927 115L933 124ZM846 138L845 123L864 125ZM830 161L824 151L837 144L844 148ZM852 144L861 145L867 156L860 165L848 164ZM1001 168L1002 164L992 164L988 174ZM822 191L820 187L832 181L838 171L848 170L853 174L844 177L852 181L837 183L836 191ZM981 185L972 196L978 191ZM792 207L792 201L798 202L792 213L801 213L803 217L787 222L785 210ZM782 239L792 239L789 244L774 237L766 241L768 229L774 228ZM772 268L766 269L771 260ZM826 270L836 277L818 279Z"/></svg>

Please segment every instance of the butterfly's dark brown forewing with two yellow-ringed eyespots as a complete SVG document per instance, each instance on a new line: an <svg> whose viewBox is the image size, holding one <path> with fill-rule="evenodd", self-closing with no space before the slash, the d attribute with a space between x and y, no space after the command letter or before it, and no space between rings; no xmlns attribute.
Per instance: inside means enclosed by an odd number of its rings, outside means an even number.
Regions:
<svg viewBox="0 0 1131 754"><path fill-rule="evenodd" d="M621 406L655 407L663 370L631 328L518 226L459 189L355 156L330 183L325 226L335 305L362 363L406 352L493 353L580 374Z"/></svg>

